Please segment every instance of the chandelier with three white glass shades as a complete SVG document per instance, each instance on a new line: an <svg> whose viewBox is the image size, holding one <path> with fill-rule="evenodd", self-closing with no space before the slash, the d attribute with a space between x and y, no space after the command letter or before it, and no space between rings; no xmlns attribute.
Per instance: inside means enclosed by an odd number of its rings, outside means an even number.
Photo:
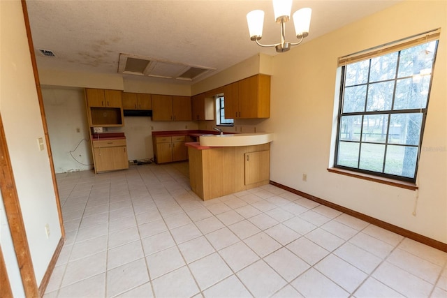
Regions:
<svg viewBox="0 0 447 298"><path fill-rule="evenodd" d="M253 10L247 13L250 39L261 47L275 47L277 52L287 52L292 45L299 45L302 40L309 35L311 8L301 8L293 13L293 23L295 24L296 43L286 41L286 22L290 20L292 10L292 0L273 0L274 19L281 24L281 43L273 45L263 45L259 40L263 36L264 12L263 10Z"/></svg>

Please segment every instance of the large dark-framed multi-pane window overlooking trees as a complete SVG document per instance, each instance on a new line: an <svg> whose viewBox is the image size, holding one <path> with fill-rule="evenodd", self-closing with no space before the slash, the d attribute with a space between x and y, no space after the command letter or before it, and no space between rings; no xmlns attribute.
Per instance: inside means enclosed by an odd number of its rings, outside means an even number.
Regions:
<svg viewBox="0 0 447 298"><path fill-rule="evenodd" d="M430 39L340 62L335 167L416 181L438 43Z"/></svg>

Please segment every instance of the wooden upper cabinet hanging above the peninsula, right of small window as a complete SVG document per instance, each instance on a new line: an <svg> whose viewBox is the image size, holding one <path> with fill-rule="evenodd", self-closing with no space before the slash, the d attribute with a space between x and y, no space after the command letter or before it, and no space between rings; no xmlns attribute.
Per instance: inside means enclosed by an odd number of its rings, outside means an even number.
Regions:
<svg viewBox="0 0 447 298"><path fill-rule="evenodd" d="M233 119L270 117L270 76L254 75L223 87L225 116Z"/></svg>

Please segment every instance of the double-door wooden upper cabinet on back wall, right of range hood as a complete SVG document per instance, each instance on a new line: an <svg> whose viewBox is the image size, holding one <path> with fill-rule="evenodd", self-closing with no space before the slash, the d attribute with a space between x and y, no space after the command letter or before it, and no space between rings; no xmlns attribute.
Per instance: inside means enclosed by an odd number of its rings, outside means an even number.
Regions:
<svg viewBox="0 0 447 298"><path fill-rule="evenodd" d="M191 97L152 94L152 121L191 121Z"/></svg>

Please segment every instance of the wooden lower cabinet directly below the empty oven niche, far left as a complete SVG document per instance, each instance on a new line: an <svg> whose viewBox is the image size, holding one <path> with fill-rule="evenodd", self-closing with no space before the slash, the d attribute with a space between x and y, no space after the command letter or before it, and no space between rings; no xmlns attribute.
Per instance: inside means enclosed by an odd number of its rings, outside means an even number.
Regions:
<svg viewBox="0 0 447 298"><path fill-rule="evenodd" d="M93 141L95 172L129 168L126 140Z"/></svg>

